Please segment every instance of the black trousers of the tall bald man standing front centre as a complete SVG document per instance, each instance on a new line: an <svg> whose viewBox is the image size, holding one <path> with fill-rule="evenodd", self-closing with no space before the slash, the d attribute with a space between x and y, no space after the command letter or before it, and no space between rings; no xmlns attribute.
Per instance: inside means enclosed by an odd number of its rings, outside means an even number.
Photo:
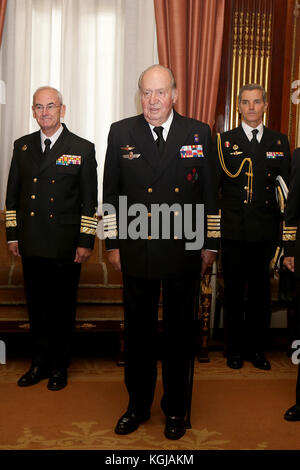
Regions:
<svg viewBox="0 0 300 470"><path fill-rule="evenodd" d="M149 412L157 377L157 323L161 281L123 276L125 313L125 384L129 407ZM166 415L184 417L189 369L195 349L195 279L162 281L162 407Z"/></svg>

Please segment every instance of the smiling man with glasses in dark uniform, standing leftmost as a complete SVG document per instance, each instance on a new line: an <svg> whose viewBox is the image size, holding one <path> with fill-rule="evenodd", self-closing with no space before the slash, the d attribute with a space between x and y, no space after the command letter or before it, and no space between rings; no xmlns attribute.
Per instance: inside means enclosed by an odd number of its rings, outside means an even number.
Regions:
<svg viewBox="0 0 300 470"><path fill-rule="evenodd" d="M81 264L96 233L97 163L94 144L60 120L59 91L39 88L33 116L40 131L16 140L6 196L8 249L22 257L33 340L30 370L18 385L49 378L48 389L67 384Z"/></svg>

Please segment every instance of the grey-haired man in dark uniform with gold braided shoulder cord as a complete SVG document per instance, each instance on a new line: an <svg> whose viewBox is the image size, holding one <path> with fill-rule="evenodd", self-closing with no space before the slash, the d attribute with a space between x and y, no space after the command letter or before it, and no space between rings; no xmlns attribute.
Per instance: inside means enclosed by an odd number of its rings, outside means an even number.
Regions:
<svg viewBox="0 0 300 470"><path fill-rule="evenodd" d="M270 322L269 264L279 240L276 178L288 180L285 135L263 125L265 90L245 85L239 93L242 123L217 136L221 193L221 253L225 286L227 365L249 359L269 370L264 356Z"/></svg>

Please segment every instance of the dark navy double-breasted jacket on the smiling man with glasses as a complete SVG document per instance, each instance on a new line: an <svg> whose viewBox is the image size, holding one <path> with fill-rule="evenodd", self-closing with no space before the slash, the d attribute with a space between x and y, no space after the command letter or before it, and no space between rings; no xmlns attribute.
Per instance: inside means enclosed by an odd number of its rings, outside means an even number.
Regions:
<svg viewBox="0 0 300 470"><path fill-rule="evenodd" d="M22 256L73 258L93 248L97 163L91 142L64 130L44 157L40 132L14 143L6 196L7 240Z"/></svg>

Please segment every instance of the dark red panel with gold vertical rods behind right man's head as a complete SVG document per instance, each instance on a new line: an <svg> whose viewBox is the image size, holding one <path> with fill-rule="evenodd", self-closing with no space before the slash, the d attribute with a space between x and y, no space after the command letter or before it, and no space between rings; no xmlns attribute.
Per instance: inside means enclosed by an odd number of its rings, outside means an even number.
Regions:
<svg viewBox="0 0 300 470"><path fill-rule="evenodd" d="M294 0L226 0L215 131L239 125L238 92L259 83L268 94L264 123L282 130L288 3ZM291 47L291 43L289 43Z"/></svg>

